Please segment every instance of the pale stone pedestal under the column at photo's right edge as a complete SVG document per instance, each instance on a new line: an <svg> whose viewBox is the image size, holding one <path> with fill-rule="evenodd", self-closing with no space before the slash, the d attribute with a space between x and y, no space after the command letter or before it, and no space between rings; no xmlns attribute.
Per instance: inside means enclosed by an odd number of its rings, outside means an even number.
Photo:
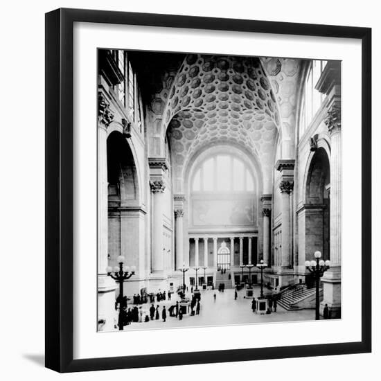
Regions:
<svg viewBox="0 0 381 381"><path fill-rule="evenodd" d="M342 269L341 267L330 267L323 278L323 301L320 304L320 314L323 316L325 305L328 305L331 319L342 317Z"/></svg>

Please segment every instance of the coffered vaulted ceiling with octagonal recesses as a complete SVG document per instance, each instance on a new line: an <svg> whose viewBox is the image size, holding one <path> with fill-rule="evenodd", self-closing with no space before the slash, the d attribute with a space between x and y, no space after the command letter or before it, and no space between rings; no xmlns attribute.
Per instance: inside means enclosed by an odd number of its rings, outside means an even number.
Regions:
<svg viewBox="0 0 381 381"><path fill-rule="evenodd" d="M173 175L200 148L234 143L256 157L268 190L278 133L292 140L300 61L186 55L151 103L172 151Z"/></svg>

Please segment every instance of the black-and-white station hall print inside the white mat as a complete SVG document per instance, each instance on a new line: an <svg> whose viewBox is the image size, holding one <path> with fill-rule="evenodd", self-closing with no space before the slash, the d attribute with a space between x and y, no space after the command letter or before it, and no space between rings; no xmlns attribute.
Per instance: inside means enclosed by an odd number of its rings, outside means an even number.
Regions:
<svg viewBox="0 0 381 381"><path fill-rule="evenodd" d="M97 64L98 333L341 319L341 62Z"/></svg>

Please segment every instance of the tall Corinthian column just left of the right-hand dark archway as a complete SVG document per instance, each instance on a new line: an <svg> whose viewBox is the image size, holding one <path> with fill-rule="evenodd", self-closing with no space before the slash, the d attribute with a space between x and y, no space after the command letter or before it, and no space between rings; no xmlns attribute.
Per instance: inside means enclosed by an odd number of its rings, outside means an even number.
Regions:
<svg viewBox="0 0 381 381"><path fill-rule="evenodd" d="M282 256L281 267L289 268L291 261L290 253L290 193L294 188L291 181L281 181L279 185L282 197Z"/></svg>

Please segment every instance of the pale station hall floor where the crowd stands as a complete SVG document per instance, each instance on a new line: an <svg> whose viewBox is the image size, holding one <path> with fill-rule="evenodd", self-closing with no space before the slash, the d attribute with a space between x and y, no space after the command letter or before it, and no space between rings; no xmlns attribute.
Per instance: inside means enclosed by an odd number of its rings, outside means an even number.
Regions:
<svg viewBox="0 0 381 381"><path fill-rule="evenodd" d="M216 295L215 301L213 294ZM254 295L259 296L259 287L254 287ZM187 296L190 296L188 292ZM197 326L227 326L231 324L255 324L255 323L272 323L276 321L305 321L314 319L314 310L287 311L278 306L276 312L271 314L256 314L251 311L251 299L246 299L245 290L238 291L238 299L234 300L234 290L229 289L224 292L218 290L202 290L201 291L201 308L200 314L190 316L184 315L182 320L176 317L170 317L168 308L170 305L180 300L177 295L173 294L170 301L161 301L154 303L156 307L159 305L160 319L141 323L132 323L125 326L124 330L142 330L142 329L158 329L158 328L175 328L175 327L197 327ZM161 310L166 305L167 319L165 322L161 319ZM128 308L133 305L128 305ZM149 314L151 304L141 305L143 317ZM139 306L140 307L140 306Z"/></svg>

